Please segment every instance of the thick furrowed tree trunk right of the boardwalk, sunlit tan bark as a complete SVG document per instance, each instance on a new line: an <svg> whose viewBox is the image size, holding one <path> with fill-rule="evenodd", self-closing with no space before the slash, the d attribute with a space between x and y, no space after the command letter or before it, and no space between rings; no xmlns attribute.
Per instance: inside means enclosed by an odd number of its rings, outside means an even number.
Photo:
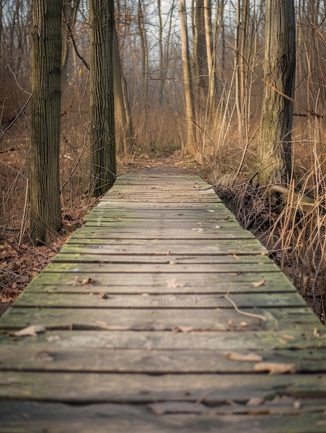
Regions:
<svg viewBox="0 0 326 433"><path fill-rule="evenodd" d="M291 173L291 129L296 68L294 0L267 0L265 95L260 129L260 185L280 183Z"/></svg>

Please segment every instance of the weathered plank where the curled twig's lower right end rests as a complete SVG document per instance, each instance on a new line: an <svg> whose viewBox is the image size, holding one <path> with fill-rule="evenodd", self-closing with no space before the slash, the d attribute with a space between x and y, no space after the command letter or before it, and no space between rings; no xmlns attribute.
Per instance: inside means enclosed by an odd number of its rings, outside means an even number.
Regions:
<svg viewBox="0 0 326 433"><path fill-rule="evenodd" d="M253 308L243 308L256 313ZM131 313L132 311L132 313ZM266 321L239 314L234 309L151 309L151 308L10 308L1 317L0 329L21 329L30 324L41 324L47 329L106 329L133 331L228 331L238 329L282 329L298 324L314 326L318 323L309 307L260 308Z"/></svg>

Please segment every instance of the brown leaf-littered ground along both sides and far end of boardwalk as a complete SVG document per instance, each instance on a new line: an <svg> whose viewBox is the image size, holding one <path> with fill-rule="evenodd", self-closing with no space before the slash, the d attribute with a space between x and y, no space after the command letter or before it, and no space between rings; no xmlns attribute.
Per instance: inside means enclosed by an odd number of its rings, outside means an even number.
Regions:
<svg viewBox="0 0 326 433"><path fill-rule="evenodd" d="M118 174L135 172L146 168L164 169L164 172L171 172L171 174L180 172L197 174L209 183L215 184L210 170L203 169L195 162L194 158L185 159L180 151L167 153L166 155L157 154L155 151L141 154L131 161L119 163ZM218 185L214 188L224 204L238 216L242 226L244 225L242 216L250 215L249 223L247 219L245 228L251 230L260 242L267 246L271 232L273 232L273 225L278 218L278 212L274 212L273 216L271 212L268 212L268 206L264 209L261 205L257 205L259 200L261 202L261 198L257 199L254 194L245 196L243 185L235 184L231 187ZM50 245L31 246L28 242L28 232L26 230L21 236L19 228L0 226L0 229L2 229L0 232L0 315L16 300L32 278L37 276L50 263L61 246L66 243L70 234L83 225L85 214L90 207L96 204L97 201L90 202L89 199L86 201L84 198L74 203L68 213L64 214L63 228ZM274 242L277 243L277 239L274 239ZM276 261L276 264L280 265L280 255L271 254L271 257ZM290 264L285 269L286 275L294 284L296 283L294 281L296 272L296 264ZM318 294L316 293L315 296L308 293L306 297L307 304L316 312L323 310L320 306L320 300L318 301L320 299ZM314 298L315 304L312 303L312 298ZM316 302L319 302L319 304L316 305ZM324 315L321 313L319 315L321 320L325 322Z"/></svg>

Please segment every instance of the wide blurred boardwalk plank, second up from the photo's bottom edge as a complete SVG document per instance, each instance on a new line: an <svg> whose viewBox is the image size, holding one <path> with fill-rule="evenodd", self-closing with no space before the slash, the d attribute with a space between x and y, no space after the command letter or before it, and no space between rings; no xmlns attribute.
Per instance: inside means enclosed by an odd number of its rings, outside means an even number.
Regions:
<svg viewBox="0 0 326 433"><path fill-rule="evenodd" d="M263 378L263 380L262 380ZM102 374L0 371L0 399L63 403L156 403L190 401L209 405L250 398L326 398L326 375Z"/></svg>

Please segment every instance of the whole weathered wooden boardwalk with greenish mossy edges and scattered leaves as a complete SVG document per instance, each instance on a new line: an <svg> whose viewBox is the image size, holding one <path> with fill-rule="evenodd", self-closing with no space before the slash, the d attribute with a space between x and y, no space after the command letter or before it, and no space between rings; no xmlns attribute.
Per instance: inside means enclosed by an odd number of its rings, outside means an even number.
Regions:
<svg viewBox="0 0 326 433"><path fill-rule="evenodd" d="M325 336L207 183L125 174L1 317L0 432L324 433Z"/></svg>

